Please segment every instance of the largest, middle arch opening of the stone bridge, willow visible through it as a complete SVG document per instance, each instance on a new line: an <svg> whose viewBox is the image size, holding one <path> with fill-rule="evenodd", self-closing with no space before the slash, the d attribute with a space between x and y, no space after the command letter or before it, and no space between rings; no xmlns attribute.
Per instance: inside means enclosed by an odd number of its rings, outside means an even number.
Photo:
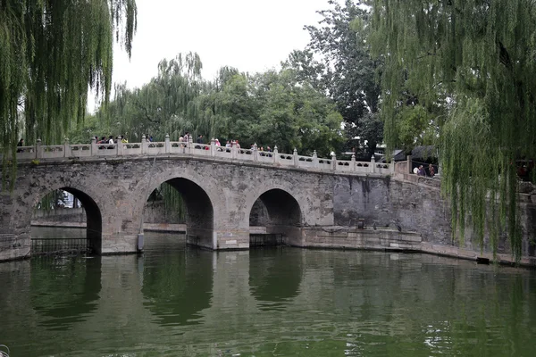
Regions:
<svg viewBox="0 0 536 357"><path fill-rule="evenodd" d="M214 208L194 181L169 179L153 190L143 212L144 230L186 234L187 245L214 249Z"/></svg>

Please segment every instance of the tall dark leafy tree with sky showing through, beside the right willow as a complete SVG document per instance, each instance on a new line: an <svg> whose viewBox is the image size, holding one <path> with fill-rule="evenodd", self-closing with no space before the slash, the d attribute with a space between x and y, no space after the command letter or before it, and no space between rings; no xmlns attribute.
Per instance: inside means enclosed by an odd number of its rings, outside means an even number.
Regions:
<svg viewBox="0 0 536 357"><path fill-rule="evenodd" d="M347 138L366 140L373 154L383 127L377 115L379 62L371 58L367 43L369 12L351 0L344 6L332 0L329 4L330 10L319 12L323 19L318 26L306 26L311 36L306 50L290 54L284 65L296 70L298 79L325 91L344 119Z"/></svg>

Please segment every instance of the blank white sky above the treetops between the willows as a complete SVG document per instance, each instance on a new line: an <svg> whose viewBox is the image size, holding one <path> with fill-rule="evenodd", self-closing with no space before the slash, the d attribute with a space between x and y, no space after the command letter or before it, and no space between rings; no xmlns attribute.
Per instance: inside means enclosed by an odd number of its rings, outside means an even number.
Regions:
<svg viewBox="0 0 536 357"><path fill-rule="evenodd" d="M132 57L116 46L113 82L141 87L155 77L163 58L197 52L202 75L214 79L224 65L250 73L279 67L309 42L305 25L316 25L328 0L137 0L138 31ZM89 110L95 104L90 95Z"/></svg>

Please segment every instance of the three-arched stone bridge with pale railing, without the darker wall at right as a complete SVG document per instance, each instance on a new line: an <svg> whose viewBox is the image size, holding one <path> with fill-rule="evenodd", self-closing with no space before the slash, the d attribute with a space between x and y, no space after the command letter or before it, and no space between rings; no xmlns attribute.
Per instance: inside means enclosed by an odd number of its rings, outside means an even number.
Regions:
<svg viewBox="0 0 536 357"><path fill-rule="evenodd" d="M237 147L163 143L23 146L12 192L2 193L1 231L12 243L7 258L26 255L29 222L41 199L63 189L87 212L87 235L97 253L138 248L147 198L163 182L187 207L189 242L210 249L249 246L251 224L301 245L303 229L333 226L333 175L386 178L392 167ZM251 217L254 205L267 214ZM250 224L251 223L251 224ZM4 258L6 257L4 245Z"/></svg>

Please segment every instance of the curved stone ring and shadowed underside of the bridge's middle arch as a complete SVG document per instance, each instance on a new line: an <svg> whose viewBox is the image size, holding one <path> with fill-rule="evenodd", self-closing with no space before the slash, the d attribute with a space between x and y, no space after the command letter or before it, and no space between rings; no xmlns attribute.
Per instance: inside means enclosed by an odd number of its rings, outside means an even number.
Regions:
<svg viewBox="0 0 536 357"><path fill-rule="evenodd" d="M211 178L204 177L196 170L174 167L151 173L138 184L138 207L134 217L143 216L148 197L163 183L174 187L182 195L187 211L187 243L217 249L214 228L220 213L214 207L219 201L222 207L225 206L225 195L216 188L216 179L211 182Z"/></svg>

